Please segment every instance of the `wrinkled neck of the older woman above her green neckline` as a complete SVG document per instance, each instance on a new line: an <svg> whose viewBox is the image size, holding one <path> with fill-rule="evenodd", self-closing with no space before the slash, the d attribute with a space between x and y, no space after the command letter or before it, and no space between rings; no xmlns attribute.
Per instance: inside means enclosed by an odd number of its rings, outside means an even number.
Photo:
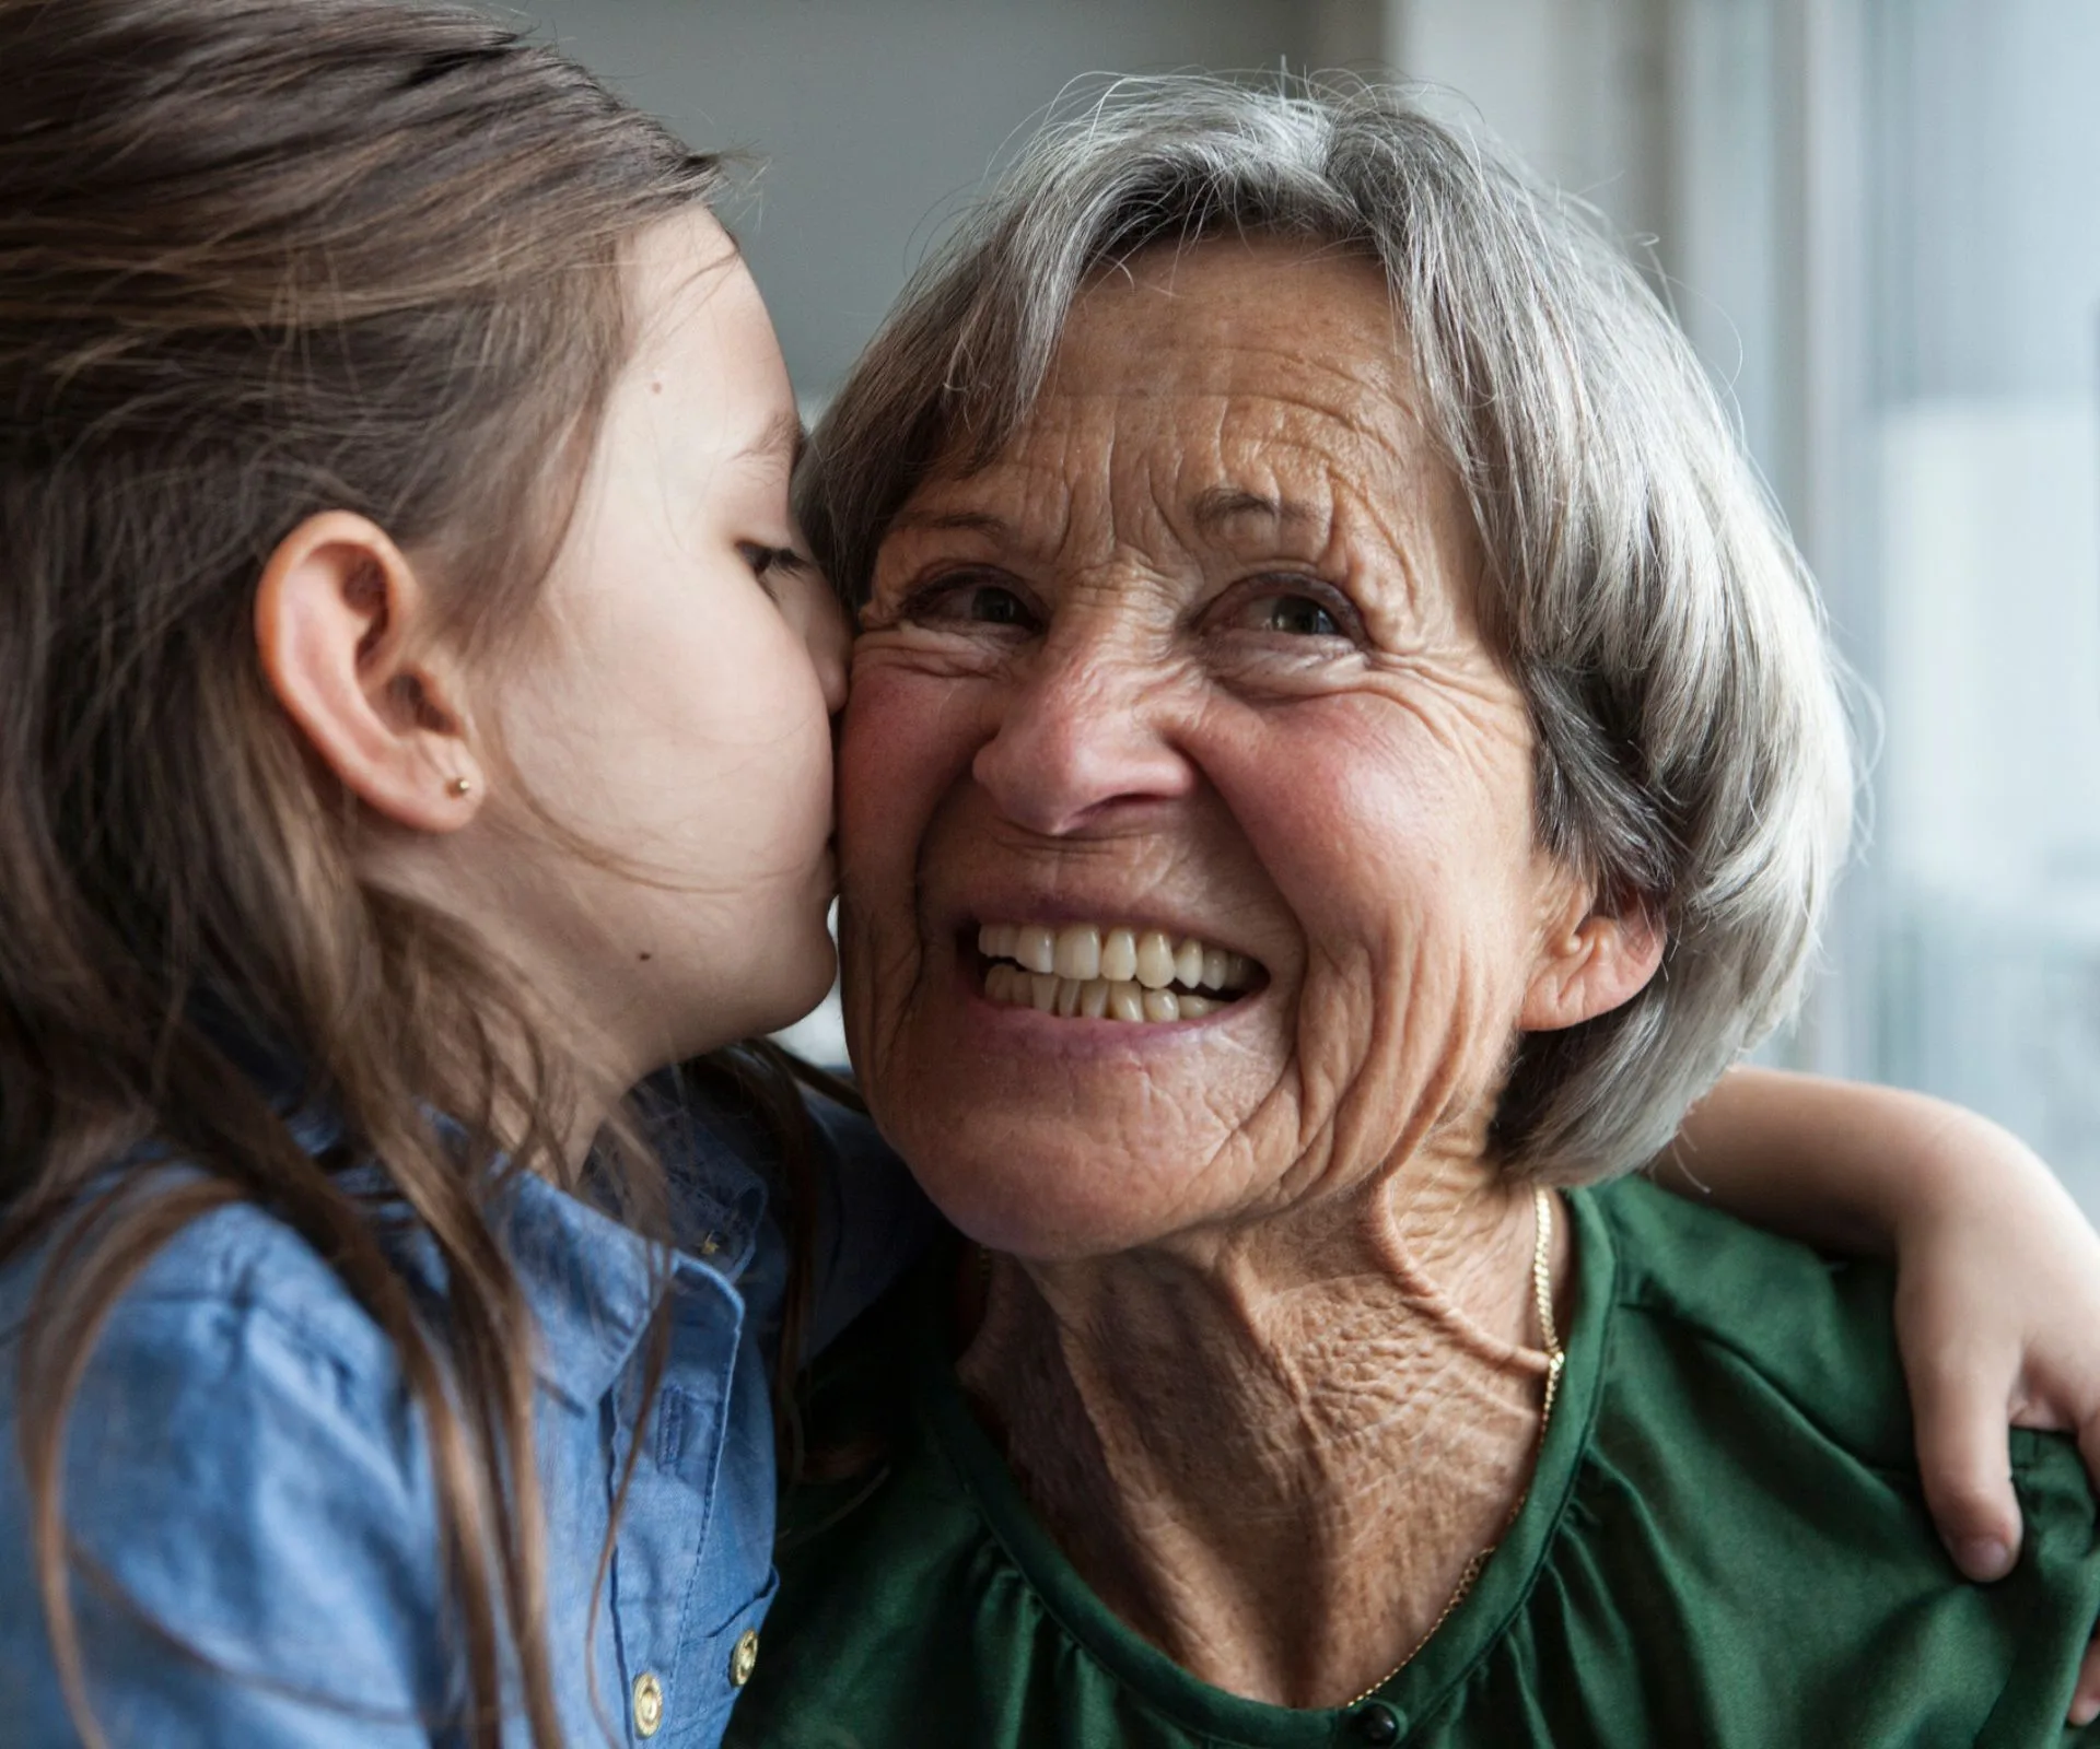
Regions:
<svg viewBox="0 0 2100 1749"><path fill-rule="evenodd" d="M1418 1165L1239 1232L995 1258L958 1363L1096 1594L1235 1694L1380 1682L1531 1480L1533 1197Z"/></svg>

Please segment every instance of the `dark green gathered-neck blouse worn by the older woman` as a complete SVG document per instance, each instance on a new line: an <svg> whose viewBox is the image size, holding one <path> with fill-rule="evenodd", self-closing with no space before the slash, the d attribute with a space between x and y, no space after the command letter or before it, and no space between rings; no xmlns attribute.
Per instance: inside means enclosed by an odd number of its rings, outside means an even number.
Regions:
<svg viewBox="0 0 2100 1749"><path fill-rule="evenodd" d="M2026 1547L1968 1585L1934 1537L1890 1274L1644 1182L1569 1197L1575 1316L1537 1476L1466 1602L1373 1701L1197 1682L1058 1554L949 1363L953 1253L827 1356L811 1447L886 1440L783 1518L729 1743L792 1749L1438 1749L2096 1743L2100 1613L2068 1440L2016 1432Z"/></svg>

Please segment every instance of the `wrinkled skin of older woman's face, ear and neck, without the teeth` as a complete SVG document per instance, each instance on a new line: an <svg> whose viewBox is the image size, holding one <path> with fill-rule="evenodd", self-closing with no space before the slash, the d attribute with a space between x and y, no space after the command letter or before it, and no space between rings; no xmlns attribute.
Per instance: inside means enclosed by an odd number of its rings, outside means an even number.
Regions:
<svg viewBox="0 0 2100 1749"><path fill-rule="evenodd" d="M1354 256L1105 277L1006 451L897 519L842 743L855 1060L1006 1253L964 1384L1113 1608L1289 1705L1390 1669L1522 1493L1533 1205L1487 1123L1522 1029L1659 955L1535 842L1411 393ZM1063 1020L981 995L983 922L1264 976L1195 1023Z"/></svg>

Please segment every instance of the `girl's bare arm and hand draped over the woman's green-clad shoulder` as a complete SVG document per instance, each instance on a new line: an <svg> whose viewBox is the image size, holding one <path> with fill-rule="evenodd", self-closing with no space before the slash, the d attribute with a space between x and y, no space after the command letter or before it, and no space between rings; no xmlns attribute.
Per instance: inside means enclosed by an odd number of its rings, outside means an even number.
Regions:
<svg viewBox="0 0 2100 1749"><path fill-rule="evenodd" d="M2020 1552L2006 1428L2075 1432L2100 1487L2100 1235L2020 1142L1896 1088L1737 1069L1657 1182L1831 1251L1896 1260L1896 1340L1926 1503L1955 1564ZM2100 1718L2100 1640L2071 1722Z"/></svg>

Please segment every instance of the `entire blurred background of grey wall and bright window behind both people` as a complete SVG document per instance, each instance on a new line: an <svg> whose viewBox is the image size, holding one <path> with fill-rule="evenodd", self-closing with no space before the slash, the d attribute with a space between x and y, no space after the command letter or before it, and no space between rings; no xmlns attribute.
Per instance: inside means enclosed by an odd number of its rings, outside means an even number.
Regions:
<svg viewBox="0 0 2100 1749"><path fill-rule="evenodd" d="M1596 204L1732 395L1882 708L1865 852L1781 1054L1978 1104L2100 1211L2100 6L514 10L762 157L739 231L811 405L1084 73L1399 71Z"/></svg>

